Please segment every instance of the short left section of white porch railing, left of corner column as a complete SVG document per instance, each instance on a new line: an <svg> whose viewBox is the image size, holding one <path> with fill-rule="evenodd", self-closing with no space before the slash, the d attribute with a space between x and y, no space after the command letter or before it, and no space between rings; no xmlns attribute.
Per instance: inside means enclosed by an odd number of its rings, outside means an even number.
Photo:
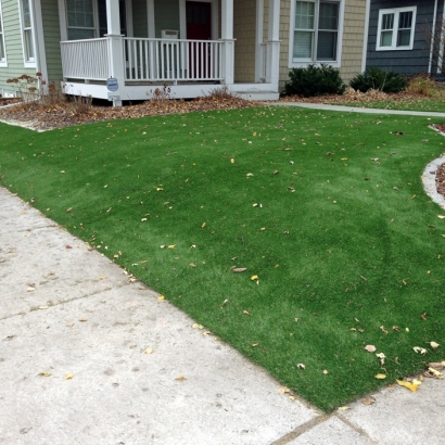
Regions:
<svg viewBox="0 0 445 445"><path fill-rule="evenodd" d="M64 78L105 80L110 77L107 39L61 41Z"/></svg>

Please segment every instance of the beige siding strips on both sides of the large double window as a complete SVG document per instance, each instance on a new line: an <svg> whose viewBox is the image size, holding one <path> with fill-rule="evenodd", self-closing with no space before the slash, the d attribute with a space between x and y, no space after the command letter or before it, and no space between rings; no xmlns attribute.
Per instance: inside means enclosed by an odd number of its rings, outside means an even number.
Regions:
<svg viewBox="0 0 445 445"><path fill-rule="evenodd" d="M280 26L280 89L289 80L289 42L291 26L291 1L281 0ZM341 67L342 79L347 84L361 71L361 54L365 33L365 0L346 0L343 22L343 48ZM267 26L267 25L266 25Z"/></svg>

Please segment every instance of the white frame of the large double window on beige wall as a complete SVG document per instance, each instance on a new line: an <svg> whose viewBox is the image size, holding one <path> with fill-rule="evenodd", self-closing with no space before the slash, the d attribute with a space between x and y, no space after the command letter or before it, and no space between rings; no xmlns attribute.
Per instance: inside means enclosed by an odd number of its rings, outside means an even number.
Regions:
<svg viewBox="0 0 445 445"><path fill-rule="evenodd" d="M295 59L293 56L294 50L294 34L295 34L295 8L297 1L306 1L315 3L315 18L314 18L314 35L319 31L318 29L318 21L319 21L319 5L320 1L327 3L338 3L339 4L339 23L338 23L338 30L336 30L336 56L333 61L317 61L316 60L316 41L313 42L314 48L314 55L312 58L302 58ZM296 68L296 67L305 67L309 64L314 65L321 65L328 64L332 67L339 68L341 67L342 63L342 47L343 47L343 31L344 31L344 5L345 0L292 0L291 1L291 20L290 20L290 27L289 27L289 68ZM316 40L316 39L315 39Z"/></svg>

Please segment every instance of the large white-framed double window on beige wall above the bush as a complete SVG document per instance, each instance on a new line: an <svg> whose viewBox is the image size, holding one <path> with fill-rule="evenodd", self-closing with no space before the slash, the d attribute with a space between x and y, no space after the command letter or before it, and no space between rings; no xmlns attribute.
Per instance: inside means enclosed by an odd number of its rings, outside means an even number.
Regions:
<svg viewBox="0 0 445 445"><path fill-rule="evenodd" d="M294 1L291 65L320 62L339 66L341 17L341 0Z"/></svg>

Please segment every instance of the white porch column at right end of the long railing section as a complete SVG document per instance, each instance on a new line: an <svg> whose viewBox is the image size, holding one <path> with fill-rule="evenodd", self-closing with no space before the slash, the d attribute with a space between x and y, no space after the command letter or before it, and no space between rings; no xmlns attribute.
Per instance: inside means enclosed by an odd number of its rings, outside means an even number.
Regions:
<svg viewBox="0 0 445 445"><path fill-rule="evenodd" d="M225 85L233 84L234 39L233 0L221 0L223 77Z"/></svg>

